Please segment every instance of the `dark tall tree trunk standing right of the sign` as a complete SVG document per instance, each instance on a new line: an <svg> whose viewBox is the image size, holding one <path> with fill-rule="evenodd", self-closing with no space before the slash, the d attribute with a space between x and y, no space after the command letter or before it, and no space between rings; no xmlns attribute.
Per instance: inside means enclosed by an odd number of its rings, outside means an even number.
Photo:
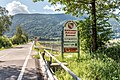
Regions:
<svg viewBox="0 0 120 80"><path fill-rule="evenodd" d="M92 51L97 50L97 30L96 30L96 6L95 0L92 2Z"/></svg>

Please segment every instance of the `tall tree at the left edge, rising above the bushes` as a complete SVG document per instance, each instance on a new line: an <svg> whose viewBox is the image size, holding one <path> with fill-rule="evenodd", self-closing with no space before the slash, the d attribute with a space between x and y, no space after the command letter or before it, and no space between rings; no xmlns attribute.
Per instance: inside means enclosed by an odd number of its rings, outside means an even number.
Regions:
<svg viewBox="0 0 120 80"><path fill-rule="evenodd" d="M11 25L11 16L8 15L8 11L0 6L0 36L7 30L9 30L9 26Z"/></svg>

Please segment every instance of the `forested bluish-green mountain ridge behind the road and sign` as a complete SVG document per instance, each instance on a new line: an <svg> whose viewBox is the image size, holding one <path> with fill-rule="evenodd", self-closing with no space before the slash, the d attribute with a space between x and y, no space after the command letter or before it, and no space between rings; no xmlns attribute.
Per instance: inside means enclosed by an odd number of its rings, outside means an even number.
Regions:
<svg viewBox="0 0 120 80"><path fill-rule="evenodd" d="M16 14L13 16L7 35L13 36L16 26L20 25L30 37L56 38L61 36L66 21L79 19L65 14Z"/></svg>

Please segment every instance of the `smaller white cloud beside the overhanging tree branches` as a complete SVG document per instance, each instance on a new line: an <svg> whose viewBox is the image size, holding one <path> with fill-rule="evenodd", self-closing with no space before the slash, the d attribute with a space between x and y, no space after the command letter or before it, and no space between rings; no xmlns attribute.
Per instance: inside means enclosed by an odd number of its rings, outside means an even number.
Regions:
<svg viewBox="0 0 120 80"><path fill-rule="evenodd" d="M45 5L44 7L43 7L43 9L44 10L48 10L47 12L48 13L64 13L64 11L62 10L62 5L60 5L60 4L57 4L57 5L51 5L51 6L48 6L48 5ZM58 10L59 9L59 11L56 11L56 10ZM49 12L50 11L50 12Z"/></svg>

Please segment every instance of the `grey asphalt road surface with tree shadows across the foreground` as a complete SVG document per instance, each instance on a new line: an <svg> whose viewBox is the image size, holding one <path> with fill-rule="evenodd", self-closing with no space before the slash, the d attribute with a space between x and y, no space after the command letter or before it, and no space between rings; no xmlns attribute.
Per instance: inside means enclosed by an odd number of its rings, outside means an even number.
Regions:
<svg viewBox="0 0 120 80"><path fill-rule="evenodd" d="M28 43L0 51L0 80L18 80L23 67L25 67L25 71L21 80L38 80L35 60L31 56L35 52L32 51L29 54L31 45L32 43ZM28 57L28 55L30 56ZM27 57L28 61L25 66L24 63Z"/></svg>

